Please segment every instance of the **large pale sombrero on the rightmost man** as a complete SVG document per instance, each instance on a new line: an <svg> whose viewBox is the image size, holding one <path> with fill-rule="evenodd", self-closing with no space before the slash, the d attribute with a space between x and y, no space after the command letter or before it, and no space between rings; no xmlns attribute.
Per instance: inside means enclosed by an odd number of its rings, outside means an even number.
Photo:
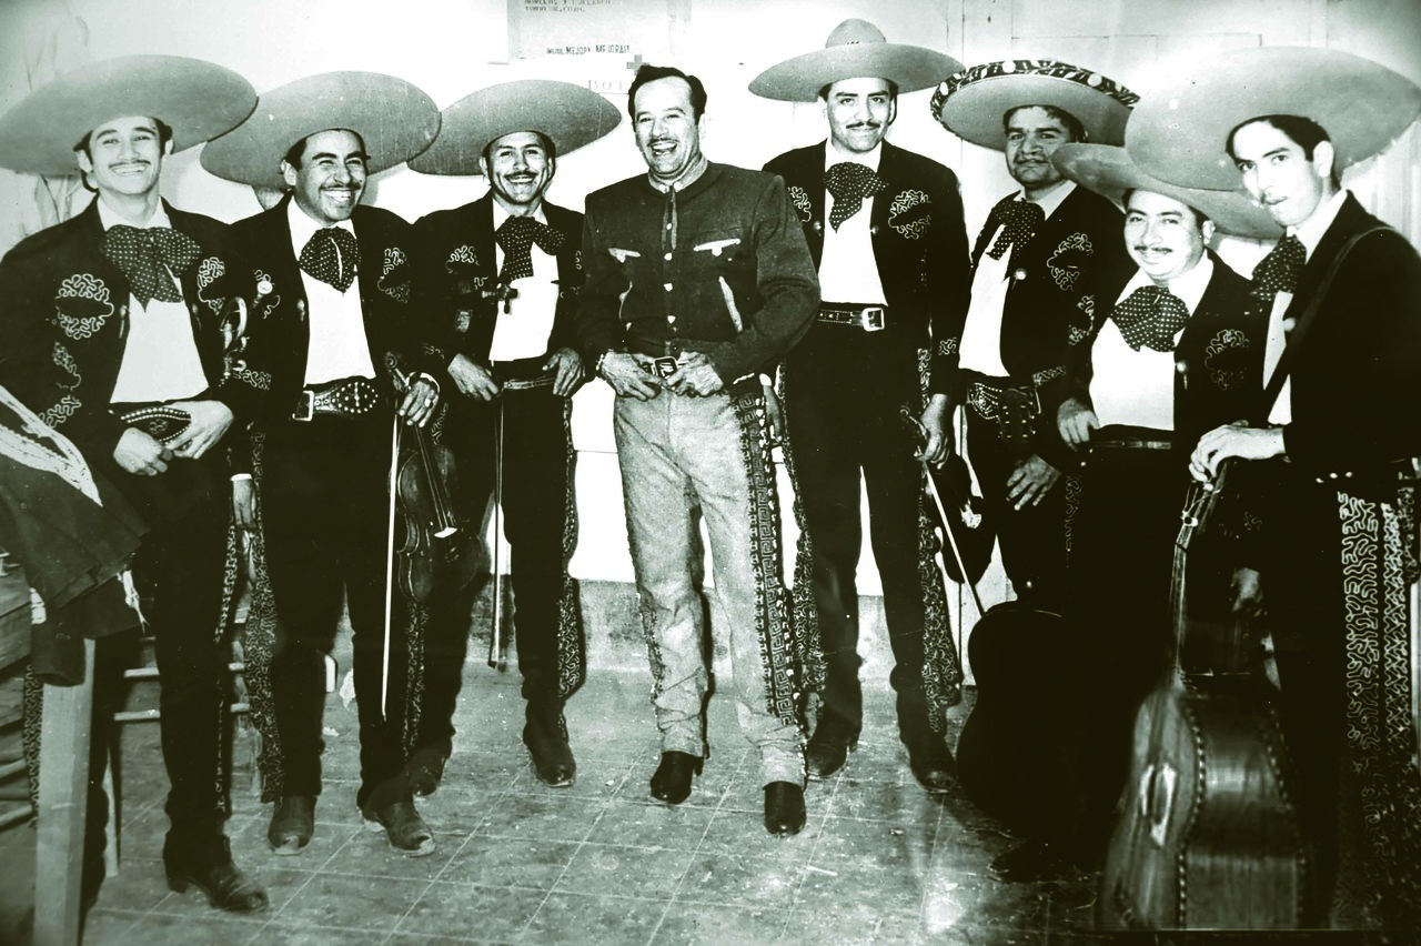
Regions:
<svg viewBox="0 0 1421 946"><path fill-rule="evenodd" d="M1384 151L1421 115L1421 88L1337 50L1232 50L1151 89L1130 121L1125 146L1157 178L1229 190L1241 183L1226 151L1229 132L1260 115L1322 125L1340 172Z"/></svg>

